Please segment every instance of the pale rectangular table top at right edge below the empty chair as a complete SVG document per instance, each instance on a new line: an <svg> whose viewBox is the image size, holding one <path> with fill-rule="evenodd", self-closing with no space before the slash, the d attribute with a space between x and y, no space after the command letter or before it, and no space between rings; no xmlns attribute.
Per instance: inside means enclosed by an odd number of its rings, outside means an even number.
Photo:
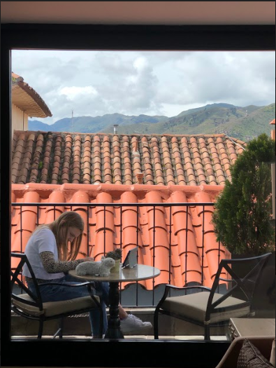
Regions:
<svg viewBox="0 0 276 368"><path fill-rule="evenodd" d="M238 336L275 336L275 318L231 318L230 328Z"/></svg>

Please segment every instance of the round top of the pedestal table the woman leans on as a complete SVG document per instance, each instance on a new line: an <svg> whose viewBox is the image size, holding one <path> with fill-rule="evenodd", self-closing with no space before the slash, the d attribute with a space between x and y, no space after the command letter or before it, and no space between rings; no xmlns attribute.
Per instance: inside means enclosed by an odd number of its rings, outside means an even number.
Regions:
<svg viewBox="0 0 276 368"><path fill-rule="evenodd" d="M133 268L122 268L122 265L120 265L118 272L110 273L106 277L96 275L80 276L75 273L75 270L69 271L69 274L84 281L129 282L156 278L160 275L160 270L156 267L146 266L145 264L137 264Z"/></svg>

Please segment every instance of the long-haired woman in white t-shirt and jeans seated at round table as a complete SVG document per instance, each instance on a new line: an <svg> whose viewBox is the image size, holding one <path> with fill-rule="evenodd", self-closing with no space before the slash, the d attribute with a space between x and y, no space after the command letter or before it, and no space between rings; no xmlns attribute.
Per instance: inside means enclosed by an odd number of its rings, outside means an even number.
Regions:
<svg viewBox="0 0 276 368"><path fill-rule="evenodd" d="M80 250L83 230L84 222L80 214L69 211L62 213L58 219L50 224L38 226L31 234L25 248L25 254L34 270L38 285L43 282L59 282L63 285L81 283L73 276L68 275L67 272L74 270L81 262L94 261L92 257L76 259ZM31 292L36 294L34 283L31 281L31 274L26 264L23 268L23 275ZM41 285L40 292L43 303L47 301L64 301L89 295L85 285L76 289L64 287L63 285ZM106 315L106 306L109 305L108 292L108 282L94 282L94 294L99 296L103 310L103 334L106 333L108 326ZM89 312L94 339L102 337L99 336L99 318L99 311ZM135 315L126 313L120 304L119 319L123 333L136 333L141 329L152 327L150 322L143 322Z"/></svg>

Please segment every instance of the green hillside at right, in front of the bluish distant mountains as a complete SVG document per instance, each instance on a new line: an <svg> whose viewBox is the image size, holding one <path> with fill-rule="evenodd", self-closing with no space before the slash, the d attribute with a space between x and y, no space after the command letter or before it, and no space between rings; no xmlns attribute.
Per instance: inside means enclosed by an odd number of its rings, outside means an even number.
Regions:
<svg viewBox="0 0 276 368"><path fill-rule="evenodd" d="M265 132L270 135L270 121L275 118L275 104L266 107L235 107L230 104L207 105L183 111L168 121L138 123L118 127L119 134L216 134L225 133L245 142ZM112 132L112 126L103 132Z"/></svg>

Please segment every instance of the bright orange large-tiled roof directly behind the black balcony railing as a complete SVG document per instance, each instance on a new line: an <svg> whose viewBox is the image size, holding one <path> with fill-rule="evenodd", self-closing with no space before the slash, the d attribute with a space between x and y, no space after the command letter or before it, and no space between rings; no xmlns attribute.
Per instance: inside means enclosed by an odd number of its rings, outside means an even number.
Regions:
<svg viewBox="0 0 276 368"><path fill-rule="evenodd" d="M96 137L99 139L99 136ZM68 147L71 146L70 139L66 142ZM94 146L97 146L100 140L93 139L93 142ZM108 139L105 142L108 142ZM194 142L196 142L195 139ZM133 144L135 145L136 141L133 141ZM75 168L79 169L77 166ZM212 203L222 188L223 186L217 184L201 186L12 184L12 203L40 203L40 205L38 210L31 206L23 207L22 211L17 205L11 208L11 249L24 251L31 232L38 224L52 222L54 216L58 217L62 212L71 210L70 205L75 203L78 205L72 207L72 210L78 212L85 221L79 258L89 254L97 261L105 252L112 250L113 247L120 247L121 244L124 258L129 249L138 244L139 262L156 266L161 270L161 275L155 279L155 286L168 282L177 286L183 286L187 282L201 283L203 266L203 285L210 287L217 272L219 259L230 257L228 251L215 239L211 223L212 206L205 207L203 214L202 205L193 205L189 210L184 205L173 206L171 210L170 207L157 206L155 211L150 205L144 205L138 209L136 206L129 206L122 207L122 213L120 207L116 205L118 203ZM47 203L62 205L57 205L54 209L52 206L47 207L45 205ZM82 206L81 203L91 203L88 218L87 207ZM106 207L105 212L103 206L96 207L96 203L114 203L114 206ZM205 219L204 228L203 219ZM106 243L104 242L105 232ZM20 247L21 244L22 247ZM145 280L140 284L147 289L153 287L152 280Z"/></svg>

